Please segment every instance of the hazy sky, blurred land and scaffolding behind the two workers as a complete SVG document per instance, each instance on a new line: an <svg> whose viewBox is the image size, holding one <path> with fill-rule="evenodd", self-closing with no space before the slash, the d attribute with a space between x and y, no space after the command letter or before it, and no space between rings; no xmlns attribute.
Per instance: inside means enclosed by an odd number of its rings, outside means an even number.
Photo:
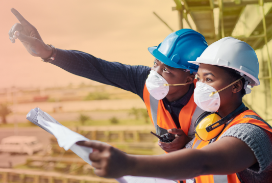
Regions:
<svg viewBox="0 0 272 183"><path fill-rule="evenodd" d="M0 1L0 182L116 182L95 176L91 166L28 122L26 114L35 107L125 152L163 153L149 134L155 129L140 97L43 63L19 41L10 43L8 31L17 22L12 7L46 43L123 64L152 66L147 47L183 28L200 32L208 44L226 36L243 40L256 50L261 82L244 102L272 124L272 0ZM34 136L43 148L1 153L9 136ZM16 149L19 143L10 145Z"/></svg>

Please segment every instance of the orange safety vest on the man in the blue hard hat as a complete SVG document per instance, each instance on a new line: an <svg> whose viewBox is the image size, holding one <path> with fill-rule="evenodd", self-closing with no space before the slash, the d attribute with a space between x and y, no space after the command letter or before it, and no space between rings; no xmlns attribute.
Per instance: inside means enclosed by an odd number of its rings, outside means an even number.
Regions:
<svg viewBox="0 0 272 183"><path fill-rule="evenodd" d="M194 86L196 82L197 80L194 80ZM177 128L170 113L165 109L163 101L151 96L146 86L144 86L143 89L143 100L149 117L156 128L157 135L161 136L166 134L167 129ZM188 135L191 123L194 123L203 112L204 111L194 103L192 95L189 102L181 109L179 114L180 126L186 135Z"/></svg>

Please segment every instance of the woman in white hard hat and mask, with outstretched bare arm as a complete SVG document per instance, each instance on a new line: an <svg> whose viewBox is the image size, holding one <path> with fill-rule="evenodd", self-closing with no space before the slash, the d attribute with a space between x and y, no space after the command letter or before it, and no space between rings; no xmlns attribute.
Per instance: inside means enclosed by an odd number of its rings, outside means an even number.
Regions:
<svg viewBox="0 0 272 183"><path fill-rule="evenodd" d="M191 63L200 65L194 101L206 111L196 120L196 138L186 149L160 156L129 155L107 144L78 142L97 149L89 158L98 176L272 182L272 127L242 102L243 95L250 93L247 87L260 84L255 51L226 37Z"/></svg>

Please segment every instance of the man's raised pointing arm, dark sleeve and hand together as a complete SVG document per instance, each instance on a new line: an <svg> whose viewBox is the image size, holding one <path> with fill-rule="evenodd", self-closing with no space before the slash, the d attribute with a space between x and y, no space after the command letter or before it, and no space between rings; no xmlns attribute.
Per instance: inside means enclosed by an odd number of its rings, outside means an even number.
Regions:
<svg viewBox="0 0 272 183"><path fill-rule="evenodd" d="M15 23L9 31L11 42L15 43L18 38L32 56L50 58L53 50L43 42L37 29L14 8L11 12L20 22ZM150 67L107 62L77 50L57 49L52 64L90 80L131 91L141 98L150 71Z"/></svg>

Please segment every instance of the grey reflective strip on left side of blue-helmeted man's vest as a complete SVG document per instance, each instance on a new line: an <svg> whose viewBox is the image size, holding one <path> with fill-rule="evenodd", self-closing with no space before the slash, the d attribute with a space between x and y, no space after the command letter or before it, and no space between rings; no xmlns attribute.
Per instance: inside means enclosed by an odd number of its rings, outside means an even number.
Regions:
<svg viewBox="0 0 272 183"><path fill-rule="evenodd" d="M157 113L158 113L159 100L155 99L152 95L150 95L149 97L150 97L150 110L151 110L152 120L153 120L154 126L156 128L156 134L161 136L161 135L167 133L167 129L161 128L157 124Z"/></svg>

